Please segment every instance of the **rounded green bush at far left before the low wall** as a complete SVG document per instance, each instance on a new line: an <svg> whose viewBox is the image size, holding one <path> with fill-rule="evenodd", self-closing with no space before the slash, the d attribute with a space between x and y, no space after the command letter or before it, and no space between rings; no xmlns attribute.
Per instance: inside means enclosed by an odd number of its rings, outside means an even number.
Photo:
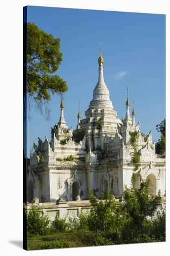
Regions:
<svg viewBox="0 0 170 256"><path fill-rule="evenodd" d="M43 216L43 211L38 206L31 206L27 214L28 235L45 235L49 232L50 219Z"/></svg>

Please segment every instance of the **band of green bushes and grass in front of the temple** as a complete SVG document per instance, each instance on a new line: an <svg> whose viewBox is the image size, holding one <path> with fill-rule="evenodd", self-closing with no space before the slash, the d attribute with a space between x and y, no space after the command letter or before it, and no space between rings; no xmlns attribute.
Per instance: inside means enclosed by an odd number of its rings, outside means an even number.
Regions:
<svg viewBox="0 0 170 256"><path fill-rule="evenodd" d="M56 215L51 228L48 218L47 222L42 221L45 216L42 216L41 210L32 209L28 215L29 234L51 232L52 235L48 235L47 239L42 237L41 243L38 239L37 245L34 238L28 247L47 249L165 241L165 214L153 218L161 197L148 195L149 180L136 189L136 180L136 174L133 174L131 187L125 187L121 202L115 200L107 189L98 200L89 189L91 208L87 212L81 211L79 216L59 218Z"/></svg>

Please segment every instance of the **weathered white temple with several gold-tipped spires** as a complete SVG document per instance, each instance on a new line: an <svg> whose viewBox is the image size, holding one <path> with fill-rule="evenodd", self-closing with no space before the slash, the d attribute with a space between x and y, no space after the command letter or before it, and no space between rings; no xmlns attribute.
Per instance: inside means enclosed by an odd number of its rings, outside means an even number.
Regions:
<svg viewBox="0 0 170 256"><path fill-rule="evenodd" d="M150 194L165 195L165 158L155 153L155 141L149 133L144 138L135 123L134 106L130 115L127 95L124 121L117 117L109 90L104 81L103 57L98 58L98 82L92 101L85 111L85 119L78 112L77 129L66 126L64 103L61 101L60 119L51 131L51 139L39 139L30 154L27 175L27 201L54 205L71 201L88 202L88 189L101 198L107 188L116 199L123 195L124 186L131 186L131 177L137 174L137 187L150 179ZM134 163L131 134L136 132L140 162ZM78 141L75 134L84 134ZM75 141L74 141L75 140ZM79 202L80 203L80 202Z"/></svg>

